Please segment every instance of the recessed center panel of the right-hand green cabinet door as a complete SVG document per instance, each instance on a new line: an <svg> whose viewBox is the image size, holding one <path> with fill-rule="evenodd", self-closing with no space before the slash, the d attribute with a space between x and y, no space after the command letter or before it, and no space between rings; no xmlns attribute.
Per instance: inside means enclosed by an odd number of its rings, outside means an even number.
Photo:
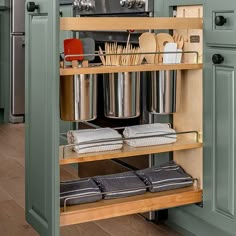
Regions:
<svg viewBox="0 0 236 236"><path fill-rule="evenodd" d="M234 79L234 67L213 67L213 211L229 218L234 217Z"/></svg>

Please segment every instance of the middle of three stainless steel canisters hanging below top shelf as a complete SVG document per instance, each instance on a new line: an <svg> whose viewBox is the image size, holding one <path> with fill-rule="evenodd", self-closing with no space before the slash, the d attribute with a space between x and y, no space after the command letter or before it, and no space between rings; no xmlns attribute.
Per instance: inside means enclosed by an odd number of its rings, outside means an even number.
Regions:
<svg viewBox="0 0 236 236"><path fill-rule="evenodd" d="M105 116L116 119L140 115L140 72L104 74Z"/></svg>

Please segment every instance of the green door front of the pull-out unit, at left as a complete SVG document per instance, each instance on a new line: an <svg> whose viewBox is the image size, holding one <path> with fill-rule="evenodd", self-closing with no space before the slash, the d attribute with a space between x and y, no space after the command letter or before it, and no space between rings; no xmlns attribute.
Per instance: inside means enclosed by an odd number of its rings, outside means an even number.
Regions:
<svg viewBox="0 0 236 236"><path fill-rule="evenodd" d="M26 1L26 4L29 1ZM26 219L59 235L59 6L26 12Z"/></svg>

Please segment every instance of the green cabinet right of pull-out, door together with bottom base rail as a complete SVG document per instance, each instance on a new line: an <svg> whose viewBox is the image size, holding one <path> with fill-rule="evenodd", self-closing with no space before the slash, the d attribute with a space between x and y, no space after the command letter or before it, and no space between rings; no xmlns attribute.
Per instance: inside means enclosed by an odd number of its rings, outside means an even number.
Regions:
<svg viewBox="0 0 236 236"><path fill-rule="evenodd" d="M214 54L224 62L213 64ZM236 51L205 48L204 55L203 208L170 210L169 224L196 235L235 235Z"/></svg>

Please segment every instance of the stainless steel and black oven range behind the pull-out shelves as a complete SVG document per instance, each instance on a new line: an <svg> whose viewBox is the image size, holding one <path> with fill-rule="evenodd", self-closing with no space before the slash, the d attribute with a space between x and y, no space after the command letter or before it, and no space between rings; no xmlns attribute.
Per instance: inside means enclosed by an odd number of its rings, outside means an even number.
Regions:
<svg viewBox="0 0 236 236"><path fill-rule="evenodd" d="M63 0L63 4L66 4ZM154 14L154 0L74 0L73 1L74 17L152 17ZM118 44L126 44L130 33L130 43L138 44L138 38L144 31L104 31L104 32L79 32L79 38L93 38L95 40L96 50L101 46L104 48L105 42L117 42ZM74 33L78 37L78 33ZM103 75L98 75L103 76ZM141 77L146 76L146 73L141 73ZM145 88L146 80L141 79L141 87ZM141 123L153 123L152 115L146 112L145 89L141 92L141 116L130 119L109 119L105 117L103 101L101 98L104 93L103 79L97 79L98 84L98 108L97 119L92 123L98 126L108 127L123 127L127 125L136 125ZM153 155L145 156L143 158L124 158L116 159L116 162L131 169L141 169L153 165ZM154 214L145 214L149 220L154 219Z"/></svg>

